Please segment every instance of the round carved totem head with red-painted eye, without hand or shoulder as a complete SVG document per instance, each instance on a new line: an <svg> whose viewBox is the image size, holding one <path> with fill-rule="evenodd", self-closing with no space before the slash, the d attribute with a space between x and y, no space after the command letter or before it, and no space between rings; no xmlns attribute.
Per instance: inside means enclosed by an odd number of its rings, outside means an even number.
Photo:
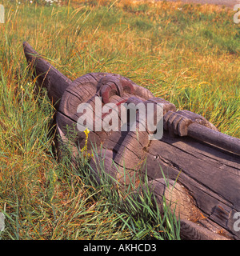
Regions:
<svg viewBox="0 0 240 256"><path fill-rule="evenodd" d="M122 105L129 106L130 104L138 106L138 110L135 108L137 110L135 115L137 115L137 112L142 112L139 111L139 107L141 106L145 108L143 112L146 112L148 105L153 105L151 111L156 112L157 106L162 104L162 115L166 114L169 110L176 110L174 104L162 98L154 98L150 90L138 86L130 79L123 78L119 74L86 74L72 82L62 95L58 110L58 129L63 134L66 134L66 126L72 127L75 123L77 133L78 131L82 132L85 130L83 126L86 126L87 119L89 119L91 123L88 123L88 129L93 131L90 133L90 141L91 138L94 138L94 142L99 145L110 136L112 131L121 132L127 130L122 128L121 112L123 111ZM147 114L151 114L150 110ZM110 116L114 115L117 115L117 118L121 119L117 120L117 126L110 123L113 122L113 118L110 118ZM154 113L152 113L152 117L154 118ZM85 124L81 122L81 119L83 120L84 118L86 119ZM136 117L134 118L136 119ZM130 119L129 116L124 120L126 122L124 125L129 126L127 122L130 120L127 121L126 119ZM137 122L140 122L141 125L142 119L140 118L139 120ZM104 126L106 122L110 127L106 128ZM150 133L150 129L142 129L141 131ZM151 130L151 133L154 134L154 130ZM78 133L78 142L80 142L80 138L81 133Z"/></svg>

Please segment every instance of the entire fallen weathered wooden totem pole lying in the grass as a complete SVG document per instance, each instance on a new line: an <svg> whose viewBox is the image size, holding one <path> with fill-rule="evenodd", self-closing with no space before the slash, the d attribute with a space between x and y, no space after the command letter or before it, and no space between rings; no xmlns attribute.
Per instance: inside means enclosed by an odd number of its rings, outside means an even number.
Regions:
<svg viewBox="0 0 240 256"><path fill-rule="evenodd" d="M57 110L58 142L68 141L67 126L76 131L77 136L71 142L76 157L77 147L81 148L86 143L86 134L76 126L83 115L78 111L80 104L88 103L96 112L96 98L101 97L100 107L114 103L115 110L121 112L122 103L142 103L144 106L153 103L154 113L155 106L161 104L164 130L160 139L150 139L154 131L148 129L90 131L88 149L91 150L92 143L97 148L102 147L102 151L99 150L98 155L90 160L90 166L96 170L93 175L98 176L99 162L103 160L104 169L110 177L118 179L121 184L129 184L145 162L142 174L147 170L149 186L159 208L162 209L162 197L165 196L166 200L174 202L176 213L180 214L182 239L240 238L238 138L220 133L198 114L176 111L174 104L154 98L150 90L121 75L92 73L72 82L27 42L23 47L27 62L34 68L38 86L46 87ZM91 118L97 125L99 117L95 114ZM106 115L101 113L100 120ZM139 120L138 116L135 122L138 127ZM163 174L168 178L168 186Z"/></svg>

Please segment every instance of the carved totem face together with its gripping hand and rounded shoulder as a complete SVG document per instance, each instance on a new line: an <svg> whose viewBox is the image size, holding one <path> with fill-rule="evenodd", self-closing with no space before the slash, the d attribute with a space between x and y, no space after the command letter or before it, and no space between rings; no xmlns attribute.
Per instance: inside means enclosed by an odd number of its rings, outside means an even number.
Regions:
<svg viewBox="0 0 240 256"><path fill-rule="evenodd" d="M149 103L153 104L153 122L154 117L158 115L156 107L159 103L162 104L162 115L164 114L166 121L164 122L164 127L172 135L185 136L187 134L187 126L191 122L202 122L203 125L211 126L205 118L198 114L189 111L176 112L174 104L162 98L154 98L149 90L138 86L128 78L123 78L118 74L94 73L86 74L76 79L66 88L62 95L57 114L57 129L61 138L60 142L69 142L71 140L75 157L78 155L78 149L82 149L84 146L87 147L90 154L92 145L98 148L97 160L92 160L92 166L95 169L100 159L104 158L107 165L106 170L109 170L114 177L117 177L119 173L123 173L125 170L129 175L131 173L134 174L134 170L142 168L142 162L146 159L146 156L150 159L154 157L153 161L150 162L155 162L158 156L161 155L162 147L162 142L152 143L150 140L150 135L156 134L156 130L150 130L148 126L145 126L145 130L139 129L142 123L142 119L139 118L140 111L135 114L136 129L130 130L129 117L127 117L127 129L122 130L122 120L120 120L122 104L134 104L134 106L137 106L139 103L142 106L147 106ZM115 127L110 123L112 120L108 118L110 111L102 113L104 112L102 111L104 107L109 104L113 105L111 112L114 112L114 117L119 119ZM79 106L83 106L82 110L80 110L81 107ZM84 123L86 119L89 119L91 123L87 123L87 121ZM103 129L102 126L104 126L105 122L113 129ZM86 126L90 130L87 144L86 133L84 132ZM114 130L114 128L117 129ZM156 146L156 143L158 146ZM102 147L102 152L99 151L100 147ZM151 147L154 149L159 147L159 150L153 154L152 150L150 150ZM113 161L115 166L112 165ZM153 166L151 166L151 169L153 170ZM122 177L124 174L120 174L120 176Z"/></svg>

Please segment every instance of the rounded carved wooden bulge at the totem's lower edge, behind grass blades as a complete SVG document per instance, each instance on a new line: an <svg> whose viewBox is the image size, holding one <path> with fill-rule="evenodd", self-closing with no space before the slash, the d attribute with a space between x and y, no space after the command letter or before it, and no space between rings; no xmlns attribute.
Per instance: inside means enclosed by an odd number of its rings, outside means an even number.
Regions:
<svg viewBox="0 0 240 256"><path fill-rule="evenodd" d="M198 221L206 218L201 210L198 209L194 198L189 194L188 190L178 182L174 180L166 180L164 178L154 179L149 182L149 186L154 192L154 196L158 201L159 206L163 206L163 201L167 206L170 207L171 211L176 215L176 218L181 219L180 227L182 239L192 240L227 240L229 233L225 236L217 234L218 230L215 226L212 230L206 229L203 226L197 224ZM163 214L163 208L160 209ZM200 222L201 223L201 222ZM209 227L209 226L208 226ZM218 227L219 229L219 227Z"/></svg>

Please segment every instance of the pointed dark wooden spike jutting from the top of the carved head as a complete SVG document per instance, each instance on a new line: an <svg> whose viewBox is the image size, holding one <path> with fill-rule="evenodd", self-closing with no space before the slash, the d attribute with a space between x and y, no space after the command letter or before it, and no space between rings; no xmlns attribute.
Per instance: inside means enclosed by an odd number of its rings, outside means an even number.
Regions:
<svg viewBox="0 0 240 256"><path fill-rule="evenodd" d="M46 62L28 42L23 42L23 50L38 86L46 88L50 100L58 110L62 94L72 81Z"/></svg>

